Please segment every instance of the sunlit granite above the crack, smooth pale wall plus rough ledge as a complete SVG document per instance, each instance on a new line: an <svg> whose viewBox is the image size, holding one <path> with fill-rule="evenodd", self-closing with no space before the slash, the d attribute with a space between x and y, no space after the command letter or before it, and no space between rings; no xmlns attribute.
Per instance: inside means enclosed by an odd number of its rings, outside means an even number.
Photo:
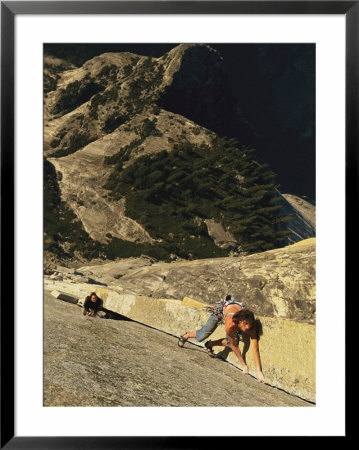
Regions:
<svg viewBox="0 0 359 450"><path fill-rule="evenodd" d="M107 311L177 336L203 326L209 314L206 307L231 293L259 320L267 382L315 401L314 239L247 257L170 264L133 259L118 264L77 268L74 272L84 274L82 282L81 276L60 280L46 275L45 290L57 298L77 299L79 305L95 291ZM88 274L102 284L89 284ZM220 326L213 339L224 336ZM241 345L255 376L248 342ZM238 366L231 352L216 352Z"/></svg>

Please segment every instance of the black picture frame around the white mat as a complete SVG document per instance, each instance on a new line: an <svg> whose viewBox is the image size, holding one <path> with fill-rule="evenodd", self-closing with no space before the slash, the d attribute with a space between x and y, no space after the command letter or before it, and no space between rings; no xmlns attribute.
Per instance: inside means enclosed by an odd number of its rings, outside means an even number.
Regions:
<svg viewBox="0 0 359 450"><path fill-rule="evenodd" d="M346 236L357 205L359 1L4 1L1 2L1 448L198 448L223 437L15 436L14 399L14 32L17 14L336 14L346 21ZM350 202L350 203L349 203ZM354 236L354 233L353 233ZM347 241L346 241L347 242ZM349 263L346 246L346 265ZM351 243L351 252L355 244ZM349 291L346 274L346 288ZM347 333L347 332L346 332ZM243 436L243 430L239 431ZM345 437L348 437L346 434ZM218 442L217 442L218 440Z"/></svg>

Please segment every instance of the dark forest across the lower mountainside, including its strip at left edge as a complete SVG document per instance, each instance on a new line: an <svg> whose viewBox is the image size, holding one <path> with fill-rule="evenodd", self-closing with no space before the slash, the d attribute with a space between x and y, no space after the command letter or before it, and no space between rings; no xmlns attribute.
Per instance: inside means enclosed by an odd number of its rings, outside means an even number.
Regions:
<svg viewBox="0 0 359 450"><path fill-rule="evenodd" d="M152 126L148 126L150 129ZM245 252L284 244L289 233L279 228L289 217L281 216L273 172L253 159L253 150L224 139L217 139L213 148L176 144L170 153L163 150L142 156L123 168L130 147L107 158L107 164L114 164L114 171L104 187L116 200L125 196L126 214L158 241L138 244L110 234L108 244L92 240L61 201L59 174L45 159L45 250L65 258L80 251L88 259L141 254L165 261L171 254L183 258L227 256L229 251L218 248L208 236L206 218L221 222Z"/></svg>

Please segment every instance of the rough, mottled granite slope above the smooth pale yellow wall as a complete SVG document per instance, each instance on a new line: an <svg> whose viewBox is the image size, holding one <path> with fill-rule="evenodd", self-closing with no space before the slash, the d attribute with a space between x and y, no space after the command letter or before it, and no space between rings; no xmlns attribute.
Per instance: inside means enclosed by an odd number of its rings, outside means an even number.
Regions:
<svg viewBox="0 0 359 450"><path fill-rule="evenodd" d="M313 238L243 257L156 263L128 271L111 286L118 292L191 297L208 304L230 293L256 314L314 323L315 267Z"/></svg>

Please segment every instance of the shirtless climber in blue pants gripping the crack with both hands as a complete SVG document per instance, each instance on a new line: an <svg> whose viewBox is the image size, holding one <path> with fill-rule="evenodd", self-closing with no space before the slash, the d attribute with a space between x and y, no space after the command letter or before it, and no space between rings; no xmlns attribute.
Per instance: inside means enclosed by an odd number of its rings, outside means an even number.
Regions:
<svg viewBox="0 0 359 450"><path fill-rule="evenodd" d="M257 379L259 382L263 383L264 375L262 373L262 365L259 354L258 330L252 311L247 310L246 306L243 303L237 302L231 295L226 295L224 299L216 303L216 306L210 307L208 309L211 311L211 315L206 324L199 330L190 331L182 335L178 340L178 345L180 347L183 347L187 340L190 338L195 338L198 342L204 341L222 322L224 323L226 337L224 339L218 339L216 341L207 341L205 343L205 347L208 350L208 354L213 357L213 347L216 346L231 348L234 354L239 359L243 367L243 372L247 374L248 366L244 361L242 353L238 347L238 334L240 332L248 334L250 337L254 364L257 370Z"/></svg>

